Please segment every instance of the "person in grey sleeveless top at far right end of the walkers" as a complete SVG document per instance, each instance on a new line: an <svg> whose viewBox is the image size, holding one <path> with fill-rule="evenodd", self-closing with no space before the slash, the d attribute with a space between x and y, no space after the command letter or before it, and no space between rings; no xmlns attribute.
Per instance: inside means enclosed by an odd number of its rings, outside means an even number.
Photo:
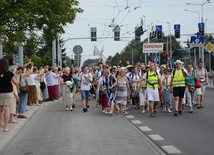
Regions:
<svg viewBox="0 0 214 155"><path fill-rule="evenodd" d="M205 92L206 85L208 85L208 74L207 70L204 68L203 62L200 60L198 62L198 68L194 71L197 79L201 83L200 88L196 88L196 95L197 95L197 102L198 102L198 109L203 108L202 100Z"/></svg>

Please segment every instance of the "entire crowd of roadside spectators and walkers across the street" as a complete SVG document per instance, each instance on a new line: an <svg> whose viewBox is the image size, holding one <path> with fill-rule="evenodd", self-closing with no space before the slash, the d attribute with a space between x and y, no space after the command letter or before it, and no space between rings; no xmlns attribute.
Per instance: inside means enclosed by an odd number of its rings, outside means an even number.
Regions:
<svg viewBox="0 0 214 155"><path fill-rule="evenodd" d="M95 67L37 68L29 61L23 66L14 65L8 69L5 58L0 63L0 126L4 131L9 131L8 122L17 123L14 116L27 118L24 115L27 104L39 106L42 102L62 98L65 110L73 111L78 92L83 112L88 111L89 100L94 97L96 106L110 116L115 110L116 113L126 113L127 106L131 105L141 109L143 114L150 111L150 115L155 117L159 103L164 111L174 111L175 116L182 115L184 107L192 113L194 106L203 108L202 99L208 84L208 74L202 61L195 69L191 64L187 64L185 69L180 60L174 63L174 69L153 62L135 66L127 62L125 67L100 62ZM5 76L8 72L11 73L8 74L9 79ZM10 83L6 83L8 80ZM20 87L26 85L27 93L20 92ZM8 100L4 96L11 95L11 91L13 96Z"/></svg>

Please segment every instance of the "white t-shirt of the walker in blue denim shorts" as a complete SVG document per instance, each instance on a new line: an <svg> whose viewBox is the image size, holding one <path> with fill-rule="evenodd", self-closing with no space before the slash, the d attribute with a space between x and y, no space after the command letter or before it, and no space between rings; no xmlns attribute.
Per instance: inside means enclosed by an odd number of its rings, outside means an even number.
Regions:
<svg viewBox="0 0 214 155"><path fill-rule="evenodd" d="M80 73L80 76L78 78L79 81L81 81L80 89L81 90L90 90L90 81L92 81L92 75L91 73Z"/></svg>

